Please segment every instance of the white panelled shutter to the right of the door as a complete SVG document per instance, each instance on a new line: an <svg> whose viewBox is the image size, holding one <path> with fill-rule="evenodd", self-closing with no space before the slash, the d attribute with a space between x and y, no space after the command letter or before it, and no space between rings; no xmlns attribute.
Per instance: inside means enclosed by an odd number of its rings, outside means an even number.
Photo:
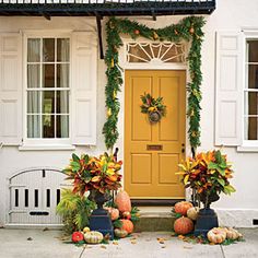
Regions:
<svg viewBox="0 0 258 258"><path fill-rule="evenodd" d="M216 34L216 145L242 144L244 49L244 37L241 33Z"/></svg>

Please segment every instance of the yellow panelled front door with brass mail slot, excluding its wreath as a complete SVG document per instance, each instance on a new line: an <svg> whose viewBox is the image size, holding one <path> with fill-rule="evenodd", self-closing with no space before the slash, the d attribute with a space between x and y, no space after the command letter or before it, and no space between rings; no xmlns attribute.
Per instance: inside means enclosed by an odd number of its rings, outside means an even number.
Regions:
<svg viewBox="0 0 258 258"><path fill-rule="evenodd" d="M186 72L126 71L125 188L134 199L181 199L177 164L186 138ZM162 96L166 116L150 124L141 113L144 93Z"/></svg>

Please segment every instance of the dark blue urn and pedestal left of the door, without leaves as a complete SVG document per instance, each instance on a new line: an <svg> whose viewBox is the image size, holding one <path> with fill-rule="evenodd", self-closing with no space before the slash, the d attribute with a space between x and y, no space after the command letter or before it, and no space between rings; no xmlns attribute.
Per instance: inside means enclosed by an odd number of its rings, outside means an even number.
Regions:
<svg viewBox="0 0 258 258"><path fill-rule="evenodd" d="M103 209L103 204L110 199L108 194L102 194L98 190L91 191L89 199L95 201L97 209L90 216L91 231L98 231L104 236L109 234L114 238L114 227L108 211Z"/></svg>

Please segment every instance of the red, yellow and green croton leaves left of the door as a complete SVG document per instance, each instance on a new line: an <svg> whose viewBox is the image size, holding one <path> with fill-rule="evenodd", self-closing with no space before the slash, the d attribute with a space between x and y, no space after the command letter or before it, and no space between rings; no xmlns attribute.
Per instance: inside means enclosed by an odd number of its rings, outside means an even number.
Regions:
<svg viewBox="0 0 258 258"><path fill-rule="evenodd" d="M70 165L63 169L68 179L73 179L73 192L83 196L89 190L105 194L121 187L121 161L104 153L99 157L72 154Z"/></svg>

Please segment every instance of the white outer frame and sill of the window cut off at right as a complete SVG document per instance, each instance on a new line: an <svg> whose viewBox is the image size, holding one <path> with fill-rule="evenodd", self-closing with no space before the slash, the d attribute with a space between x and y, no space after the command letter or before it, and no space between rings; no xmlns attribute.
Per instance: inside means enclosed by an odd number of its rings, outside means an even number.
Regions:
<svg viewBox="0 0 258 258"><path fill-rule="evenodd" d="M246 51L246 47L247 47L247 40L249 39L255 39L258 40L258 27L257 28L243 28L243 33L244 33L244 42L245 42L245 49L244 49L244 64L243 64L243 69L244 69L244 77L243 77L243 89L242 89L242 101L243 101L243 110L242 110L242 116L244 117L243 119L243 134L242 134L242 139L243 139L243 144L241 146L237 146L237 151L239 152L258 152L258 140L245 140L245 93L246 92L251 92L248 91L246 87L247 83L248 83L248 74L247 74L247 69L246 66L248 64L247 62L247 51ZM256 91L258 93L258 91ZM258 133L258 132L257 132Z"/></svg>

